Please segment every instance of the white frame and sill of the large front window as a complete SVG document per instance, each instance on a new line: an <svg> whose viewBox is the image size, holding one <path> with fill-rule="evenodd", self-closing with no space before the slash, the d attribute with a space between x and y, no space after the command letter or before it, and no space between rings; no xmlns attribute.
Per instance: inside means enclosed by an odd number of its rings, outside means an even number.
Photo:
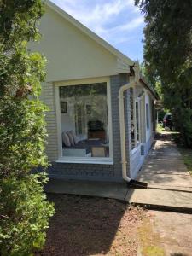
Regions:
<svg viewBox="0 0 192 256"><path fill-rule="evenodd" d="M59 88L61 86L81 85L81 84L107 84L107 104L108 104L108 140L109 140L109 157L67 157L62 155L62 138L61 138L61 106ZM96 79L77 79L63 82L56 82L55 85L55 108L57 122L57 141L58 141L58 160L59 163L79 163L79 164L101 164L113 165L113 130L112 130L112 110L111 110L111 89L110 78Z"/></svg>

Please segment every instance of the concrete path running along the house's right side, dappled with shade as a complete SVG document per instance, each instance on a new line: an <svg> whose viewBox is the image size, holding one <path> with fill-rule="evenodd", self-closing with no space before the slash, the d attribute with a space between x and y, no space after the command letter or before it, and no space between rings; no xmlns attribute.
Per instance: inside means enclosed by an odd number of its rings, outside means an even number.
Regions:
<svg viewBox="0 0 192 256"><path fill-rule="evenodd" d="M129 189L125 201L154 209L192 213L192 177L166 132L148 154L137 180L148 183L148 189Z"/></svg>

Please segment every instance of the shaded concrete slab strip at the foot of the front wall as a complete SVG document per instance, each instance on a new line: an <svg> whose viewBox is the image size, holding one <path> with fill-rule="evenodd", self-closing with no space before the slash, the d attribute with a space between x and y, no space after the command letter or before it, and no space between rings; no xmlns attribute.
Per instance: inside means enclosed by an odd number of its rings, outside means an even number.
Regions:
<svg viewBox="0 0 192 256"><path fill-rule="evenodd" d="M127 185L125 183L107 183L92 181L73 181L51 178L44 187L47 193L99 196L125 200Z"/></svg>

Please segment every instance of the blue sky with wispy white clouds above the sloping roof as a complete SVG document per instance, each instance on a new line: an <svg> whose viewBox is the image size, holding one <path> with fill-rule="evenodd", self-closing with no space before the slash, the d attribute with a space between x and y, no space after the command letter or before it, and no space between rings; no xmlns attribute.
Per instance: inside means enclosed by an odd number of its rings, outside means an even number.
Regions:
<svg viewBox="0 0 192 256"><path fill-rule="evenodd" d="M143 61L144 19L134 0L51 0L133 61Z"/></svg>

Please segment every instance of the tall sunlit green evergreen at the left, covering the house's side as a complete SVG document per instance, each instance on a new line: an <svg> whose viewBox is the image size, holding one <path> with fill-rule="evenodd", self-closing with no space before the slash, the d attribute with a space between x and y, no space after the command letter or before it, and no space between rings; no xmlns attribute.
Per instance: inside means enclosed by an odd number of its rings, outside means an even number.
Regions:
<svg viewBox="0 0 192 256"><path fill-rule="evenodd" d="M45 59L27 49L40 38L41 0L0 0L0 254L30 255L42 247L54 207L43 193L47 166L39 100Z"/></svg>

